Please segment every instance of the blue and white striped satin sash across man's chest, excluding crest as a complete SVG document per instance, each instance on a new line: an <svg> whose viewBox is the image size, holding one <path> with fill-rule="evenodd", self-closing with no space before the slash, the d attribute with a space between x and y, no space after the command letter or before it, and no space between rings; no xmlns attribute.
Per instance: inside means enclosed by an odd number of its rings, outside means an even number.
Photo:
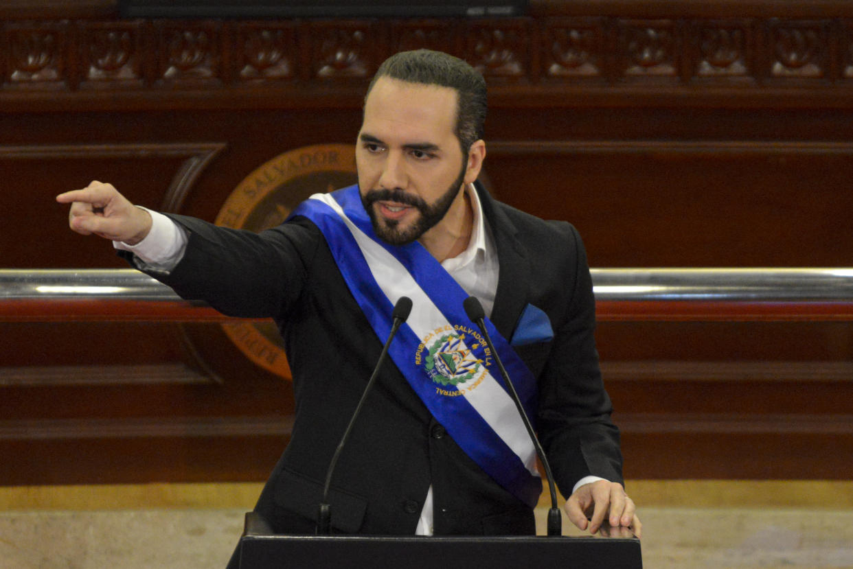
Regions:
<svg viewBox="0 0 853 569"><path fill-rule="evenodd" d="M479 332L462 308L467 293L417 241L403 247L381 241L357 186L312 195L293 211L294 216L309 218L321 229L380 340L391 331L397 299L412 299L409 320L389 350L392 360L462 450L505 489L534 507L542 491L536 450L500 375L492 376L483 366L485 374L479 372L473 386L441 386L427 374L423 356L447 334L462 335L456 347L470 350L474 361L491 363L488 347L476 340ZM536 382L530 370L494 325L488 321L486 325L528 415L535 417ZM466 341L469 338L473 341Z"/></svg>

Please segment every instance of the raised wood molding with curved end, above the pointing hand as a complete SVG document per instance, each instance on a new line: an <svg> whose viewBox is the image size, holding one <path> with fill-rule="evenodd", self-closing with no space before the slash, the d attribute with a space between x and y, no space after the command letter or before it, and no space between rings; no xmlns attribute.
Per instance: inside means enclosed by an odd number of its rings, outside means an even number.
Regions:
<svg viewBox="0 0 853 569"><path fill-rule="evenodd" d="M160 206L161 211L178 212L201 172L226 146L225 142L0 145L0 160L183 158Z"/></svg>

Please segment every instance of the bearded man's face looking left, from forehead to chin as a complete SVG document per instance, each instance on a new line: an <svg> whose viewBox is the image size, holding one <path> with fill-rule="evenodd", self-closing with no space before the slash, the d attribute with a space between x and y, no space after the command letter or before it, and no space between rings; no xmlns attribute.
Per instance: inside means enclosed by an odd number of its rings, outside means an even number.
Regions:
<svg viewBox="0 0 853 569"><path fill-rule="evenodd" d="M364 209L381 239L415 241L461 204L471 167L454 134L456 90L380 78L364 104L356 164ZM476 160L474 160L476 162Z"/></svg>

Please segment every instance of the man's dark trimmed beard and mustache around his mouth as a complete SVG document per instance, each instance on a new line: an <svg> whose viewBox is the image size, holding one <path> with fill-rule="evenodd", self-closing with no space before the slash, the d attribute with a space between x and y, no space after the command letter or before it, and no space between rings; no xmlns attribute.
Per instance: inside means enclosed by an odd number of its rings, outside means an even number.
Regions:
<svg viewBox="0 0 853 569"><path fill-rule="evenodd" d="M366 195L363 195L362 204L368 212L368 216L370 216L370 223L373 224L376 235L382 241L386 241L392 245L408 245L412 241L419 239L429 229L435 227L447 215L450 206L453 205L453 200L459 194L459 189L465 179L465 162L462 165L462 171L459 173L456 181L432 204L427 204L426 201L417 195L406 194L399 188L371 189ZM377 215L374 210L374 204L377 201L396 201L406 206L415 207L421 213L421 216L416 218L414 223L409 225L409 227L400 227L397 219L380 218Z"/></svg>

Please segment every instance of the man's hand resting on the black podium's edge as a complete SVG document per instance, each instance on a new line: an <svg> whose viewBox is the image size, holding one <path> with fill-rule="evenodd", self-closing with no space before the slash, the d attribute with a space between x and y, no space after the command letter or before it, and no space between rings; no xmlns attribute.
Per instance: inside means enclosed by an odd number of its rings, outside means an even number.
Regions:
<svg viewBox="0 0 853 569"><path fill-rule="evenodd" d="M566 515L581 530L595 533L605 525L629 528L640 537L641 523L635 514L634 501L625 494L621 484L597 480L578 488L566 500Z"/></svg>

